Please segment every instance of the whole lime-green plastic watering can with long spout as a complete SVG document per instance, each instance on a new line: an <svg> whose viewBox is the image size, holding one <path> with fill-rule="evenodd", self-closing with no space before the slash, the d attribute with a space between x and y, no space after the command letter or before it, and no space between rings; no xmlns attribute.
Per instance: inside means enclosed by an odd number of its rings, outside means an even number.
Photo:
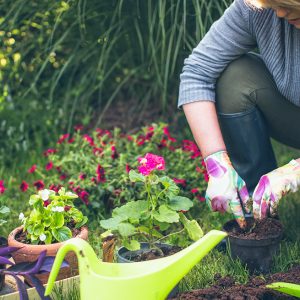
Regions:
<svg viewBox="0 0 300 300"><path fill-rule="evenodd" d="M223 231L211 230L171 256L129 264L102 262L87 242L73 238L57 252L45 295L51 293L65 255L74 251L79 262L82 300L165 299L180 279L226 236Z"/></svg>

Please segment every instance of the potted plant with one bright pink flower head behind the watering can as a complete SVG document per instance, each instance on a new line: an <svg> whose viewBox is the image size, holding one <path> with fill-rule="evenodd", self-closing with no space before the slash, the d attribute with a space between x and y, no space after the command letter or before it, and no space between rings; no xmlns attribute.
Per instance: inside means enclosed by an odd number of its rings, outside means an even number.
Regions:
<svg viewBox="0 0 300 300"><path fill-rule="evenodd" d="M183 213L193 206L193 202L179 196L180 188L174 180L156 175L157 171L165 169L164 158L147 153L138 161L139 172L131 170L129 178L140 189L142 199L115 208L111 218L100 221L101 227L107 229L103 237L110 234L118 237L123 247L118 250L117 257L123 262L137 260L144 252L151 257L165 256L169 247L160 242L173 235L187 232L193 241L203 235L198 223Z"/></svg>

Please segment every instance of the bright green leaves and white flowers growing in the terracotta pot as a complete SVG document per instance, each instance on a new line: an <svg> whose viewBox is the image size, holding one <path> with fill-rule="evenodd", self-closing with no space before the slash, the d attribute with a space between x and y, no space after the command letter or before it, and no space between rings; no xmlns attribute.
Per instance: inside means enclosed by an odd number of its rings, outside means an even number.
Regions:
<svg viewBox="0 0 300 300"><path fill-rule="evenodd" d="M73 201L77 197L76 194L65 192L64 188L58 194L45 189L32 195L29 199L29 205L32 206L30 215L25 217L21 213L19 216L27 239L32 244L51 244L70 239L70 228L80 228L87 222L87 217L74 207Z"/></svg>

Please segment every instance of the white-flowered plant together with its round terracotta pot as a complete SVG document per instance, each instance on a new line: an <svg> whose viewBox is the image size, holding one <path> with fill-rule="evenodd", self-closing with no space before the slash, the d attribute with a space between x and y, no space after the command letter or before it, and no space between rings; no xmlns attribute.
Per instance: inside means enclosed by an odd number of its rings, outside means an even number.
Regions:
<svg viewBox="0 0 300 300"><path fill-rule="evenodd" d="M16 263L35 261L46 250L47 256L55 256L62 243L72 237L87 240L88 230L84 225L87 217L74 206L78 196L61 188L58 193L52 190L40 190L29 199L32 207L30 215L20 213L22 226L14 229L8 236L8 245L18 247L12 253ZM69 267L62 268L58 280L78 273L74 253L66 257ZM48 274L37 276L43 283ZM29 284L31 284L28 281Z"/></svg>

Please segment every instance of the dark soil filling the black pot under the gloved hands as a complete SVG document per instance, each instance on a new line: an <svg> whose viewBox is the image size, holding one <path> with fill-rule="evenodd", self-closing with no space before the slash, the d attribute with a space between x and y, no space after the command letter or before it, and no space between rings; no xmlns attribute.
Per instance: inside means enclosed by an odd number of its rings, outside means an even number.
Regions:
<svg viewBox="0 0 300 300"><path fill-rule="evenodd" d="M234 237L260 240L278 236L278 233L282 232L283 227L280 221L274 218L263 220L247 218L247 228L245 230L241 229L235 220L227 222L224 225L224 230Z"/></svg>

